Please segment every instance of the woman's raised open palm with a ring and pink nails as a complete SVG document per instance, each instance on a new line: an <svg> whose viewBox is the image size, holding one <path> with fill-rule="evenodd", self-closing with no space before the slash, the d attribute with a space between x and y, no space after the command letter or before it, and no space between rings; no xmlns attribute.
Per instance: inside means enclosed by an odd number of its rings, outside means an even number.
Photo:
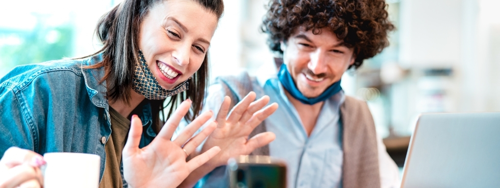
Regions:
<svg viewBox="0 0 500 188"><path fill-rule="evenodd" d="M191 171L220 151L220 148L215 146L186 162L187 155L193 152L216 127L216 122L211 122L191 138L192 134L213 115L211 111L200 114L175 140L170 140L190 105L190 100L183 101L158 135L143 148L138 147L142 123L136 115L132 116L130 132L122 153L123 175L129 187L177 187Z"/></svg>

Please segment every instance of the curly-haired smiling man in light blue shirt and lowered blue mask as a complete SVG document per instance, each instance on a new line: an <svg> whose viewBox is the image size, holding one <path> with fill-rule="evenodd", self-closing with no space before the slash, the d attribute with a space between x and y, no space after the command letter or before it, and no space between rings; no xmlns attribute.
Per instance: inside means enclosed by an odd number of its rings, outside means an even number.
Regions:
<svg viewBox="0 0 500 188"><path fill-rule="evenodd" d="M348 68L359 67L388 45L387 32L394 26L385 7L383 0L271 0L263 31L284 62L277 76L221 77L209 88L204 108L225 116L229 99L224 95L235 103L249 89L255 93L236 105L234 118L247 120L237 108L252 105L248 100L256 96L268 95L261 100L279 107L253 131L219 125L203 147L218 145L225 154L198 168L191 181L204 175L199 186L227 187L222 162L253 151L287 162L288 187L397 187L397 166L376 136L366 103L345 96L340 87Z"/></svg>

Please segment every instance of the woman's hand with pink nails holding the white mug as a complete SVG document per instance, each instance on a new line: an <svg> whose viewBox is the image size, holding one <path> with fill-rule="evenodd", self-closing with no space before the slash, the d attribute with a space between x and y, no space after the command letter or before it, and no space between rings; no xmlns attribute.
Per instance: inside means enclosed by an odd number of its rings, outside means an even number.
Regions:
<svg viewBox="0 0 500 188"><path fill-rule="evenodd" d="M0 159L0 188L41 187L43 157L31 150L10 147Z"/></svg>

